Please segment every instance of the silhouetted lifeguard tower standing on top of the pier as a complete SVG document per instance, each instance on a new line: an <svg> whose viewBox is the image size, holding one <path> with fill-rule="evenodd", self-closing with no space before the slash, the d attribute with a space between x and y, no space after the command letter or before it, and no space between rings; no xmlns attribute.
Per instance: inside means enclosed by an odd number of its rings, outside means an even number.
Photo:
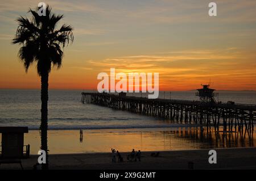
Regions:
<svg viewBox="0 0 256 181"><path fill-rule="evenodd" d="M218 96L218 93L214 92L215 89L210 89L210 85L201 85L202 89L197 89L196 96L199 96L200 102L203 103L217 103L214 99L215 96Z"/></svg>

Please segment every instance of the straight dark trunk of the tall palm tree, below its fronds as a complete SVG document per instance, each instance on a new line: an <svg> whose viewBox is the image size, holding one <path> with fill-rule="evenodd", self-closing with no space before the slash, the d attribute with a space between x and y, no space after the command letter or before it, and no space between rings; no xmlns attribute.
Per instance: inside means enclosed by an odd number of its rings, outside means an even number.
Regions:
<svg viewBox="0 0 256 181"><path fill-rule="evenodd" d="M48 73L41 75L41 149L46 151L46 164L42 164L42 169L48 169L48 146L47 146L47 129L48 129Z"/></svg>

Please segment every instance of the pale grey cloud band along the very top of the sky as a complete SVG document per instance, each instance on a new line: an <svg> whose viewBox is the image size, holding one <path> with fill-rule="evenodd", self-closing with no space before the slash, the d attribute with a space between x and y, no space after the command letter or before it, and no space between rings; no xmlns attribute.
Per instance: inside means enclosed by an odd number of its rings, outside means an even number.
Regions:
<svg viewBox="0 0 256 181"><path fill-rule="evenodd" d="M89 12L99 15L104 19L115 19L126 22L137 20L140 23L184 23L184 22L208 22L208 3L203 0L197 1L61 1L48 0L45 3L51 5L53 10L64 12ZM256 20L256 1L254 0L227 0L214 1L217 3L217 18L210 19L212 22L254 22ZM34 0L9 0L1 2L0 12L24 11L28 7L36 7L38 2ZM87 14L88 16L88 14Z"/></svg>

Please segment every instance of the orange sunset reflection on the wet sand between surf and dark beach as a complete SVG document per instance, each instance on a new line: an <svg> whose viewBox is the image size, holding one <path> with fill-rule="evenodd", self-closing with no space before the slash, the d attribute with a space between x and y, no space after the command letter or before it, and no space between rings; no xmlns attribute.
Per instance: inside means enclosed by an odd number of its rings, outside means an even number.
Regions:
<svg viewBox="0 0 256 181"><path fill-rule="evenodd" d="M222 128L148 128L148 129L95 129L49 130L49 154L102 153L115 148L122 152L192 150L207 148L236 148L255 146L254 132L223 132ZM86 141L85 141L86 135ZM1 138L1 136L0 136ZM29 131L24 144L31 145L31 154L40 149L39 131Z"/></svg>

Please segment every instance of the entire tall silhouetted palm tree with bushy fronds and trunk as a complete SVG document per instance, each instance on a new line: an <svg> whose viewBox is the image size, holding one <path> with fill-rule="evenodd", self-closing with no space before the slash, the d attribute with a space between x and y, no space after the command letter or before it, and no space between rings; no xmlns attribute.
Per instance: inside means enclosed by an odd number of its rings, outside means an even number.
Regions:
<svg viewBox="0 0 256 181"><path fill-rule="evenodd" d="M16 20L19 26L16 30L13 44L22 45L18 56L24 64L26 73L33 63L36 63L38 75L41 77L41 149L46 151L46 164L43 169L48 169L48 77L51 68L61 67L63 58L63 48L73 41L73 28L63 24L57 29L57 23L63 15L51 13L51 8L47 6L46 16L38 15L39 8L29 10L32 19L20 16Z"/></svg>

